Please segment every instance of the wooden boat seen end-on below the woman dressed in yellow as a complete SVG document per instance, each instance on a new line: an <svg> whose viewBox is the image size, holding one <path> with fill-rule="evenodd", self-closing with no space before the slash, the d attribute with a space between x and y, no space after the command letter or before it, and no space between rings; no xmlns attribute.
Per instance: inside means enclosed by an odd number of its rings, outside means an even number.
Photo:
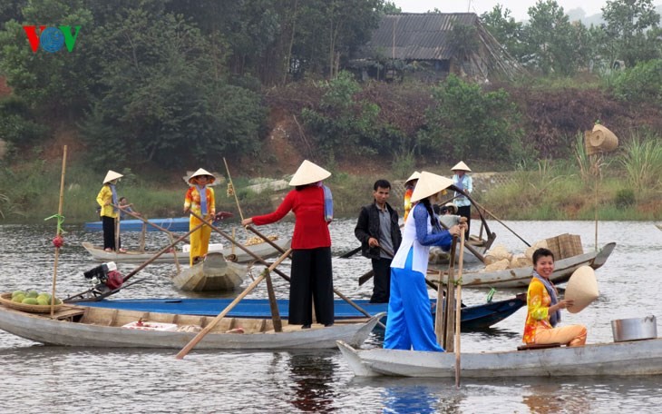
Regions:
<svg viewBox="0 0 662 414"><path fill-rule="evenodd" d="M204 261L172 277L182 291L234 291L246 279L248 267L226 261L222 253L208 253Z"/></svg>

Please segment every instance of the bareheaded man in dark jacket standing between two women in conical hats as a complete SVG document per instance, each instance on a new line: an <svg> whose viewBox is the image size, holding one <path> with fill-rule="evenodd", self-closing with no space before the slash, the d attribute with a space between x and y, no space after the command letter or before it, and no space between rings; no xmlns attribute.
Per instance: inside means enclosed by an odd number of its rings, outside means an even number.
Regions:
<svg viewBox="0 0 662 414"><path fill-rule="evenodd" d="M373 261L375 287L370 302L386 303L391 291L391 261L400 247L402 234L398 213L386 202L391 183L377 180L373 188L375 202L361 208L354 234L361 242L362 254Z"/></svg>

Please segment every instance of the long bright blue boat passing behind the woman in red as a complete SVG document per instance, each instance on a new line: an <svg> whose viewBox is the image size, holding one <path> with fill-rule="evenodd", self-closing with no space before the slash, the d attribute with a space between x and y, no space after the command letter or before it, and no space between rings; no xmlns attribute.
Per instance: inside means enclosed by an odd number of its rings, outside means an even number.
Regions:
<svg viewBox="0 0 662 414"><path fill-rule="evenodd" d="M523 294L525 295L525 294ZM122 311L144 311L158 313L174 313L180 315L215 316L223 311L234 299L104 299L78 303L81 306L110 308ZM355 300L358 306L371 316L388 311L387 303L369 303L367 300ZM431 300L431 305L436 301ZM287 319L289 301L277 301L280 317ZM497 322L511 316L526 304L526 296L518 295L505 301L491 301L481 305L462 308L462 330L485 330ZM346 301L334 301L336 320L365 318L365 315ZM434 312L433 312L434 315ZM271 318L269 301L267 299L244 299L228 313L233 318Z"/></svg>

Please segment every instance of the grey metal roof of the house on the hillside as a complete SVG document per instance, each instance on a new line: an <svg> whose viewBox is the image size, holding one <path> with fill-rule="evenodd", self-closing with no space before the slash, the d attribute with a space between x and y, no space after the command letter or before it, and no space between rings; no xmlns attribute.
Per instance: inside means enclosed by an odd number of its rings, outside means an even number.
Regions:
<svg viewBox="0 0 662 414"><path fill-rule="evenodd" d="M449 34L454 25L476 25L474 13L404 13L385 15L367 44L401 60L446 60L453 57Z"/></svg>

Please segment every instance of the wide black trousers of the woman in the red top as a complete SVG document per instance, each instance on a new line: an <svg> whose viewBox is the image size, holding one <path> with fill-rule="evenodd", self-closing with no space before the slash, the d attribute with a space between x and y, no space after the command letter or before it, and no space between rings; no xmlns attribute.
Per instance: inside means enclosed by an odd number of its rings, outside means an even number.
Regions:
<svg viewBox="0 0 662 414"><path fill-rule="evenodd" d="M292 271L289 285L289 323L313 323L313 302L317 322L334 322L334 282L331 269L331 248L297 249L292 251Z"/></svg>

